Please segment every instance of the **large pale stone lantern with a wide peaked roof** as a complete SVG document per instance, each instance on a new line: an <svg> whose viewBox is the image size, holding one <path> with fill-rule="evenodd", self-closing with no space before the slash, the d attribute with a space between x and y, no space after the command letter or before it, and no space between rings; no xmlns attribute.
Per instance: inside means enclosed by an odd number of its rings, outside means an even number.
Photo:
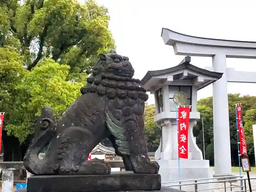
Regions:
<svg viewBox="0 0 256 192"><path fill-rule="evenodd" d="M142 86L155 95L157 115L154 119L161 129L161 141L155 153L155 160L160 165L160 174L163 182L179 179L178 105L191 106L188 159L180 159L180 179L212 177L209 161L203 160L202 152L196 144L193 126L200 119L200 113L197 112L197 91L220 79L222 73L191 65L190 59L187 56L178 66L164 70L148 71L141 80Z"/></svg>

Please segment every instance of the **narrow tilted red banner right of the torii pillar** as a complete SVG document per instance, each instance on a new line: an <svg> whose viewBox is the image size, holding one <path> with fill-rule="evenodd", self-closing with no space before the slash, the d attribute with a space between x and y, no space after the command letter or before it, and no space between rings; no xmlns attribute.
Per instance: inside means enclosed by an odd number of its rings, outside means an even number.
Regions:
<svg viewBox="0 0 256 192"><path fill-rule="evenodd" d="M246 140L244 135L244 127L242 122L242 105L237 105L237 119L238 119L238 136L240 142L240 154L247 155Z"/></svg>

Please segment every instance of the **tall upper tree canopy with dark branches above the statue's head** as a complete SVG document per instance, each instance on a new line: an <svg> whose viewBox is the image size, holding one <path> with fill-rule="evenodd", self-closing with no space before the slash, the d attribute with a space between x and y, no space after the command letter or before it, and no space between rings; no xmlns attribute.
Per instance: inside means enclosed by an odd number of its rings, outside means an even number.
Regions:
<svg viewBox="0 0 256 192"><path fill-rule="evenodd" d="M0 18L2 45L20 51L29 71L50 57L72 73L90 72L97 54L115 47L108 10L94 1L4 0Z"/></svg>

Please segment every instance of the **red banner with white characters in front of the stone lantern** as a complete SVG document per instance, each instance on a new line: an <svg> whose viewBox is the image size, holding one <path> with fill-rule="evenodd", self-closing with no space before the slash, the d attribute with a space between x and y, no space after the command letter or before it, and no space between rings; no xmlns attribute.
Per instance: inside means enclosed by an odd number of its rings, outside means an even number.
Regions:
<svg viewBox="0 0 256 192"><path fill-rule="evenodd" d="M189 106L180 106L178 110L178 153L179 158L188 158Z"/></svg>

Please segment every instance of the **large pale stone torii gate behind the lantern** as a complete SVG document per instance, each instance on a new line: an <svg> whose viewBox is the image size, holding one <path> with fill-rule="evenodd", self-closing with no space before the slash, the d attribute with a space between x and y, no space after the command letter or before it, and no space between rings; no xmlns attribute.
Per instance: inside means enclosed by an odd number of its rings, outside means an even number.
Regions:
<svg viewBox="0 0 256 192"><path fill-rule="evenodd" d="M223 73L213 84L215 174L231 174L227 82L256 83L256 72L226 67L226 58L256 58L256 42L202 38L162 28L164 44L176 55L212 57L212 68Z"/></svg>

